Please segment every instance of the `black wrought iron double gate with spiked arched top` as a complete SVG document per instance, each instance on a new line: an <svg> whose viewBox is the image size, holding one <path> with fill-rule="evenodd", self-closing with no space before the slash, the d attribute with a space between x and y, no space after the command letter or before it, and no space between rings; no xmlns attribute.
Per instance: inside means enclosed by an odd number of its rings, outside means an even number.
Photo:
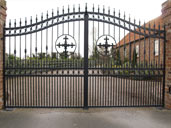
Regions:
<svg viewBox="0 0 171 128"><path fill-rule="evenodd" d="M165 30L100 7L4 31L5 107L163 106Z"/></svg>

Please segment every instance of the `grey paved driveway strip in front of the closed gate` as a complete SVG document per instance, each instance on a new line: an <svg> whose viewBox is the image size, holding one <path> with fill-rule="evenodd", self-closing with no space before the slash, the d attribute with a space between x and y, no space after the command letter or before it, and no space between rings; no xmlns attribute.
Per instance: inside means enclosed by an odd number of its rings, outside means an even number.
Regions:
<svg viewBox="0 0 171 128"><path fill-rule="evenodd" d="M16 109L0 111L1 128L171 128L157 108Z"/></svg>

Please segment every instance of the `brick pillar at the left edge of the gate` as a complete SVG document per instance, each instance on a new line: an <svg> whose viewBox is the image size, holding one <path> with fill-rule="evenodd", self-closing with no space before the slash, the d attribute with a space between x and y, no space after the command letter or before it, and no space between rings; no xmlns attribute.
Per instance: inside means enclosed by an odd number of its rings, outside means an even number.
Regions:
<svg viewBox="0 0 171 128"><path fill-rule="evenodd" d="M3 28L6 20L6 1L0 0L0 109L3 108Z"/></svg>

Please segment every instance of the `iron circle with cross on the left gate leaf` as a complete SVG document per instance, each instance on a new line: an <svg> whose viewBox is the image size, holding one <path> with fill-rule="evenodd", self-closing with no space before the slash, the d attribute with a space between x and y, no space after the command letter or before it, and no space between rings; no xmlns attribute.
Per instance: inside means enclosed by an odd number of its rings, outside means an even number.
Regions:
<svg viewBox="0 0 171 128"><path fill-rule="evenodd" d="M63 34L56 40L55 48L60 55L63 54L65 57L70 56L76 50L76 41L71 35Z"/></svg>

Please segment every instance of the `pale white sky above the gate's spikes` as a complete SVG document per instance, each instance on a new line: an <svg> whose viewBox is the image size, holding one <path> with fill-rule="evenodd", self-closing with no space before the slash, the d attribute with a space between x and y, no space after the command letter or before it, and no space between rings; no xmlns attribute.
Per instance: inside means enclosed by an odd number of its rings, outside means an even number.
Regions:
<svg viewBox="0 0 171 128"><path fill-rule="evenodd" d="M115 8L116 11L120 10L126 16L131 16L137 20L148 22L161 15L161 4L166 0L6 0L7 1L7 20L25 18L30 16L41 15L42 12L46 13L52 9L56 10L57 7L61 8L68 5L81 4L82 7L85 3L89 6L95 4L97 7L104 5L106 8Z"/></svg>

